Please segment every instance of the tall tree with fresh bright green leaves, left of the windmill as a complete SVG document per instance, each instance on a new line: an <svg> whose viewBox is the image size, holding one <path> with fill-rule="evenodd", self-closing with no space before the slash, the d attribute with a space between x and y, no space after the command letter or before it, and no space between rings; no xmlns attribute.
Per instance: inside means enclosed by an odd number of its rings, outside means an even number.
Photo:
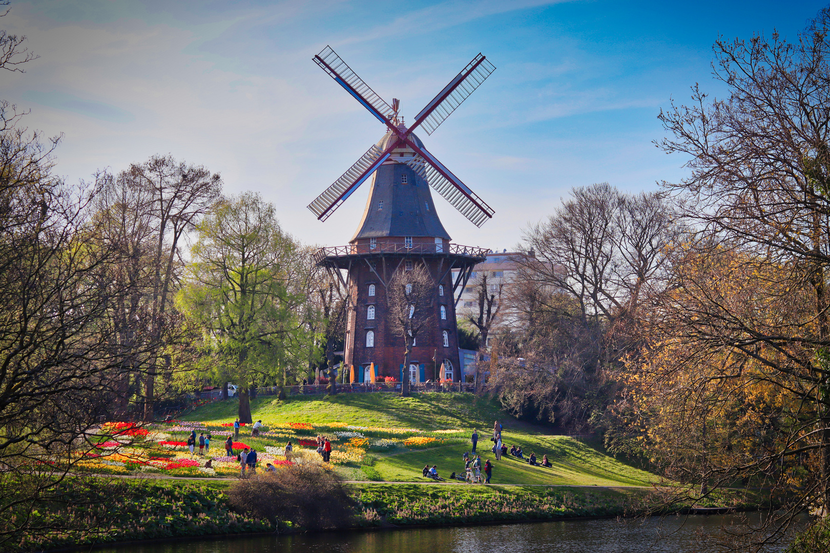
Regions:
<svg viewBox="0 0 830 553"><path fill-rule="evenodd" d="M247 192L219 202L197 226L193 264L179 308L202 330L202 347L220 380L239 387L239 419L251 422L251 388L286 383L286 347L304 340L298 317L304 264L281 230L274 206Z"/></svg>

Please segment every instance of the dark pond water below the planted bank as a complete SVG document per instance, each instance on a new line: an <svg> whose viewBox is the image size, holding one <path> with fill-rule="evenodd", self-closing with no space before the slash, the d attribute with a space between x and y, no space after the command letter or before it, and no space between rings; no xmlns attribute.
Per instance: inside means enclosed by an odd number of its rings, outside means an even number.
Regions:
<svg viewBox="0 0 830 553"><path fill-rule="evenodd" d="M757 521L757 515L750 515ZM691 553L700 537L738 519L724 516L654 517L533 522L374 531L326 531L159 541L99 549L107 553ZM779 548L783 549L783 547ZM774 551L774 550L771 550Z"/></svg>

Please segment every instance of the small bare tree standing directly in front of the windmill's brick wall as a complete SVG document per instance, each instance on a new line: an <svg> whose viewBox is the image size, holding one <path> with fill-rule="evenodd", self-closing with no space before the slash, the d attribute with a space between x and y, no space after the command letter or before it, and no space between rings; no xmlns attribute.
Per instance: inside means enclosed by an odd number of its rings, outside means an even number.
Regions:
<svg viewBox="0 0 830 553"><path fill-rule="evenodd" d="M434 324L435 289L429 270L422 264L413 264L411 270L398 269L386 287L389 326L405 345L401 395L409 395L409 355L418 334Z"/></svg>

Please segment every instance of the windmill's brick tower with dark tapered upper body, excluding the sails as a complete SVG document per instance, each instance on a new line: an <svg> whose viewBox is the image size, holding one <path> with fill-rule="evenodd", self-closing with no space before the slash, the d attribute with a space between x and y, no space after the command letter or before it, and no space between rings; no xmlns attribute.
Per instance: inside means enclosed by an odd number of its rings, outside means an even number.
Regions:
<svg viewBox="0 0 830 553"><path fill-rule="evenodd" d="M410 136L422 148L417 136ZM378 147L385 149L394 139L387 133ZM427 267L435 282L435 324L417 337L410 355L410 379L462 378L455 290L486 259L486 250L450 243L427 180L407 163L397 161L413 155L405 144L393 148L393 155L374 172L363 219L349 245L317 252L318 263L343 269L348 275L344 281L349 290L344 355L346 366L354 365L359 382L369 381L371 363L378 376L401 378L404 342L388 322L386 283L396 270L411 270L417 264ZM455 282L453 272L459 274Z"/></svg>

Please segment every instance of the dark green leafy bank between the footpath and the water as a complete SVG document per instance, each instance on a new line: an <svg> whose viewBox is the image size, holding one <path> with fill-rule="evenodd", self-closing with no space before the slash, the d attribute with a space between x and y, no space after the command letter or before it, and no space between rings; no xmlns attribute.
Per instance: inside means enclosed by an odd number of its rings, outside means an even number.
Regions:
<svg viewBox="0 0 830 553"><path fill-rule="evenodd" d="M90 493L70 480L61 484L66 503L44 506L40 510L43 514L37 517L44 524L60 518L79 530L29 535L13 549L43 551L122 541L301 530L292 528L291 523L275 525L234 512L227 494L231 485L231 480L101 481L100 488ZM349 492L354 498L355 528L634 516L642 512L648 493L643 488L383 483L350 484ZM736 494L718 503L754 507L754 500Z"/></svg>

